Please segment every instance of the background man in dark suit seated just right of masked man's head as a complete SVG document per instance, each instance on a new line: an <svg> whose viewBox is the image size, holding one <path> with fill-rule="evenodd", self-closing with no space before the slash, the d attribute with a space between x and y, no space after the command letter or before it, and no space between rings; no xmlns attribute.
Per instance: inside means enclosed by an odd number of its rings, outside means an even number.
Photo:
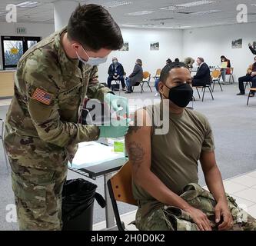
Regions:
<svg viewBox="0 0 256 246"><path fill-rule="evenodd" d="M204 62L204 58L198 57L197 63L199 67L196 75L193 77L192 86L211 85L210 68Z"/></svg>

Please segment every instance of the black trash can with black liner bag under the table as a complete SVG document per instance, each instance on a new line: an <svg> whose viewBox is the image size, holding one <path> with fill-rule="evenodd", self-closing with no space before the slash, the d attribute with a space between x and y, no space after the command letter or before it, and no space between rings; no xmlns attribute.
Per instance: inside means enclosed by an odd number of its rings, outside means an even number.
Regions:
<svg viewBox="0 0 256 246"><path fill-rule="evenodd" d="M105 199L97 185L82 178L65 181L62 191L62 231L92 231L93 205L105 208Z"/></svg>

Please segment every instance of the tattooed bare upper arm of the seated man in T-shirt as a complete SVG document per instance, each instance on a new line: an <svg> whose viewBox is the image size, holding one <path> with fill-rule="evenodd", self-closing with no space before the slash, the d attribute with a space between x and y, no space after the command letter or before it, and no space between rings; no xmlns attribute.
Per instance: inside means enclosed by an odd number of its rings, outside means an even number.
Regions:
<svg viewBox="0 0 256 246"><path fill-rule="evenodd" d="M141 178L141 173L150 171L151 167L151 126L144 109L135 112L135 125L130 126L125 136L125 148L136 181L138 177Z"/></svg>

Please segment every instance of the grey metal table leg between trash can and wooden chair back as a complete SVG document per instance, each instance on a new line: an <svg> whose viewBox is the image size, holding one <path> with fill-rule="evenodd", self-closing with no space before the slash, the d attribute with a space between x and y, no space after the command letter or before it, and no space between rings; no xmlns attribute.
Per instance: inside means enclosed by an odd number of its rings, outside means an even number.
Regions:
<svg viewBox="0 0 256 246"><path fill-rule="evenodd" d="M108 184L107 181L109 178L111 178L111 174L104 175L104 186L105 186L105 201L106 201L106 207L105 207L105 214L106 214L106 227L112 228L115 226L115 216L114 211L111 205L111 198L109 196L108 192Z"/></svg>

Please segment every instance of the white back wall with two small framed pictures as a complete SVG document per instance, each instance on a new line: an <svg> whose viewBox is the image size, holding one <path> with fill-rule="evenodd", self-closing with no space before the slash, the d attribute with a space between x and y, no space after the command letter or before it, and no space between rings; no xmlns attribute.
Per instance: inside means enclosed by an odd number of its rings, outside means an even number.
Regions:
<svg viewBox="0 0 256 246"><path fill-rule="evenodd" d="M163 68L168 58L174 60L182 55L182 35L179 30L159 30L146 28L122 28L121 33L124 41L129 42L128 52L111 52L108 62L99 65L98 75L100 81L107 81L108 67L112 57L116 56L118 62L124 66L128 75L131 74L135 61L141 58L143 71L149 71L151 76L155 75L157 68ZM150 51L150 42L159 42L159 51Z"/></svg>

